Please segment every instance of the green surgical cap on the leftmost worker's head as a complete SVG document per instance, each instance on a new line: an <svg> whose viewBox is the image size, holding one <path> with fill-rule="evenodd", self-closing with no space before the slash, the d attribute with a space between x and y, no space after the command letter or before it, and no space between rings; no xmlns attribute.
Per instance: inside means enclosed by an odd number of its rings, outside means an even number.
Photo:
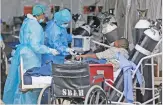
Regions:
<svg viewBox="0 0 163 105"><path fill-rule="evenodd" d="M45 13L45 6L44 5L37 4L32 9L32 14L35 16L39 16L43 13Z"/></svg>

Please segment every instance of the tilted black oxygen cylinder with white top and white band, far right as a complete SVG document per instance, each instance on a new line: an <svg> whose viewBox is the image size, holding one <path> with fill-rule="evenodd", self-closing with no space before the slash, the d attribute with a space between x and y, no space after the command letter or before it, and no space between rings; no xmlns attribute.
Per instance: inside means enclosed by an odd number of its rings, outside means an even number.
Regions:
<svg viewBox="0 0 163 105"><path fill-rule="evenodd" d="M138 64L141 58L151 54L159 40L159 31L154 28L145 30L138 44L135 46L136 52L134 53L131 61Z"/></svg>

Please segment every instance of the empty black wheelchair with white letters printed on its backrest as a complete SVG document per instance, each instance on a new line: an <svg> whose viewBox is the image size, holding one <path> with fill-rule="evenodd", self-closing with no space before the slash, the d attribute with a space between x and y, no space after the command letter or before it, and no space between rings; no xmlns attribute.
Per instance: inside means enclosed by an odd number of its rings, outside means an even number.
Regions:
<svg viewBox="0 0 163 105"><path fill-rule="evenodd" d="M52 83L41 90L38 104L108 104L104 89L93 83L101 77L90 81L89 68L84 63L53 64Z"/></svg>

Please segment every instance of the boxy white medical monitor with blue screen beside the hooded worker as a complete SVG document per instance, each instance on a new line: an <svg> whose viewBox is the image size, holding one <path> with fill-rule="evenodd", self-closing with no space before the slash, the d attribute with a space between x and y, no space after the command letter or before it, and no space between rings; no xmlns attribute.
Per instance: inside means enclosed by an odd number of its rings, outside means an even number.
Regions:
<svg viewBox="0 0 163 105"><path fill-rule="evenodd" d="M73 36L72 48L77 52L90 50L90 37L88 36Z"/></svg>

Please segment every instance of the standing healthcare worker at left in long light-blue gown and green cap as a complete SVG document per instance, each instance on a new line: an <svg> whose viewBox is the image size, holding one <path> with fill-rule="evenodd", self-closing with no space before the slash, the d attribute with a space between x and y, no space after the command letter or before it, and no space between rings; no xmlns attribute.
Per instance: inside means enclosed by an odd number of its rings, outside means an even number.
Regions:
<svg viewBox="0 0 163 105"><path fill-rule="evenodd" d="M44 21L45 7L35 5L32 14L28 14L24 20L19 35L20 44L17 46L11 61L11 67L5 83L3 101L5 104L36 104L39 91L20 91L20 57L23 59L23 70L41 67L41 55L57 55L55 49L44 45L44 33L39 23Z"/></svg>

